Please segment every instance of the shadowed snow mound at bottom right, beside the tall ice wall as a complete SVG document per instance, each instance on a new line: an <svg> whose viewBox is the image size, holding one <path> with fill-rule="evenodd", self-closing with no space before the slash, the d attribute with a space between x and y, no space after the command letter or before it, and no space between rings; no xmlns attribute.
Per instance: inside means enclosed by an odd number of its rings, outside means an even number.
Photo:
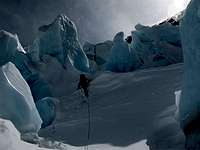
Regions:
<svg viewBox="0 0 200 150"><path fill-rule="evenodd" d="M176 106L172 105L154 119L147 144L152 150L185 150L185 136L175 119Z"/></svg>

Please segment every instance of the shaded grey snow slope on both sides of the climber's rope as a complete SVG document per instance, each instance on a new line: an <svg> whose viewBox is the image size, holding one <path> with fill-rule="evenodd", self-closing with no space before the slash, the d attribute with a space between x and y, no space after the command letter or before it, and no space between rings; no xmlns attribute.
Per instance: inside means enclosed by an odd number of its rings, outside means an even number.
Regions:
<svg viewBox="0 0 200 150"><path fill-rule="evenodd" d="M174 91L181 88L182 73L182 64L177 64L131 73L105 72L98 76L90 87L90 148L101 149L104 145L108 149L131 149L134 143L145 140L153 131L155 116L175 105ZM54 126L42 130L40 135L72 145L86 145L84 97L74 88L74 92L60 100Z"/></svg>

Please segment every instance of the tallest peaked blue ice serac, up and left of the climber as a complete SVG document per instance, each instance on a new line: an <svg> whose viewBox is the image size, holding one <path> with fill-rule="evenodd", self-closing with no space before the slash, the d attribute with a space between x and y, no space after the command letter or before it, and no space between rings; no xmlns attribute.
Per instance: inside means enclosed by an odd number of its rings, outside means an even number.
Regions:
<svg viewBox="0 0 200 150"><path fill-rule="evenodd" d="M39 37L29 48L34 61L51 55L63 67L71 63L79 71L89 71L89 62L79 43L76 26L68 17L59 15L53 23L41 26L39 32Z"/></svg>

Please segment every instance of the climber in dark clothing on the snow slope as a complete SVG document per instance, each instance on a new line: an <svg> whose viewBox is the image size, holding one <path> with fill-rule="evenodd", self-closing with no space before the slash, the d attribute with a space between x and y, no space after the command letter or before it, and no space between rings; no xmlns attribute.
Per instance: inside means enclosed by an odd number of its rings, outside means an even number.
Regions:
<svg viewBox="0 0 200 150"><path fill-rule="evenodd" d="M80 75L80 80L78 83L78 89L83 90L85 96L89 97L88 87L90 85L90 81L84 74Z"/></svg>

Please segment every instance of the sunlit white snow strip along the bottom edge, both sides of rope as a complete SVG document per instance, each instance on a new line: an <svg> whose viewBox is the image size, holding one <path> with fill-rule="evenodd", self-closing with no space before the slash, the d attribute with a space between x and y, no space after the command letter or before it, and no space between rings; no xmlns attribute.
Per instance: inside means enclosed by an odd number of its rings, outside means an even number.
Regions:
<svg viewBox="0 0 200 150"><path fill-rule="evenodd" d="M41 139L39 145L26 143L21 140L20 133L17 131L15 126L11 121L0 118L0 150L82 150L84 147L74 147L66 145L59 142L45 141ZM125 150L148 150L148 147L145 146L145 140L138 143L132 144L125 148ZM107 149L107 150L119 150L120 148L108 146L106 144L101 145L92 145L89 148L91 149Z"/></svg>

